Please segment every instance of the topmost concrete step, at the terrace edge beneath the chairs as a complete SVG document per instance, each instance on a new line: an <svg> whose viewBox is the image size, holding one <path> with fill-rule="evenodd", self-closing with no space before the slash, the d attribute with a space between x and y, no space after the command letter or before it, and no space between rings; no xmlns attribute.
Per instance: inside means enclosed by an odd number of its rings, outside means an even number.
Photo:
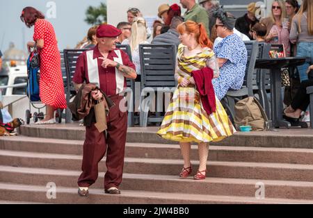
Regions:
<svg viewBox="0 0 313 218"><path fill-rule="evenodd" d="M157 132L158 127L128 128L127 142L172 144L163 140ZM45 137L63 140L84 140L85 128L79 124L53 124L38 126L21 126L19 133L31 137ZM280 148L312 149L312 129L278 129L274 131L236 133L227 139L211 143L223 146L262 146Z"/></svg>

